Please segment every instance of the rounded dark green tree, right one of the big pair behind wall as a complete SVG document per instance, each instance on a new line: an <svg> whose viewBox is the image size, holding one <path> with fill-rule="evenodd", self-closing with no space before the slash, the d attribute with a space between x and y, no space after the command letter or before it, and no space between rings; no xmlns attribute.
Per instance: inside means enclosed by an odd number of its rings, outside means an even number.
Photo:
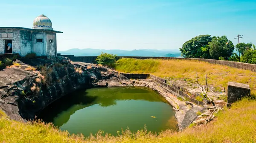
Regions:
<svg viewBox="0 0 256 143"><path fill-rule="evenodd" d="M219 57L227 60L234 51L233 42L227 39L227 36L212 37L212 42L209 42L209 53L212 59Z"/></svg>

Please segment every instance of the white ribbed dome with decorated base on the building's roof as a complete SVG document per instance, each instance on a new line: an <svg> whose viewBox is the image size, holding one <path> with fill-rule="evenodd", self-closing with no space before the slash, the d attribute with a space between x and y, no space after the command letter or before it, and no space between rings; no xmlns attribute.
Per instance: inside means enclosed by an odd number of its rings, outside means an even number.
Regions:
<svg viewBox="0 0 256 143"><path fill-rule="evenodd" d="M38 17L36 17L33 22L33 25L33 29L53 30L51 20L48 17L44 16L44 14L41 14Z"/></svg>

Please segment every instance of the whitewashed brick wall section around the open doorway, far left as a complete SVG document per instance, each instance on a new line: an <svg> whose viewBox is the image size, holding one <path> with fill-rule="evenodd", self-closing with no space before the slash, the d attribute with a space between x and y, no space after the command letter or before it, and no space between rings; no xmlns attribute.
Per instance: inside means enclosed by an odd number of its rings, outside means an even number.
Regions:
<svg viewBox="0 0 256 143"><path fill-rule="evenodd" d="M12 53L20 54L20 30L0 29L0 54L5 53L5 39L12 40Z"/></svg>

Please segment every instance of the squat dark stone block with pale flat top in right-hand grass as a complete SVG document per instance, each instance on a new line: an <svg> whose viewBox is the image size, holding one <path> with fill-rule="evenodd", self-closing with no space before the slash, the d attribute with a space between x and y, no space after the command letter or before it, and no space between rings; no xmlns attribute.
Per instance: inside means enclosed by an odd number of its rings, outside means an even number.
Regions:
<svg viewBox="0 0 256 143"><path fill-rule="evenodd" d="M250 96L250 86L248 84L228 82L227 104L232 104L246 96Z"/></svg>

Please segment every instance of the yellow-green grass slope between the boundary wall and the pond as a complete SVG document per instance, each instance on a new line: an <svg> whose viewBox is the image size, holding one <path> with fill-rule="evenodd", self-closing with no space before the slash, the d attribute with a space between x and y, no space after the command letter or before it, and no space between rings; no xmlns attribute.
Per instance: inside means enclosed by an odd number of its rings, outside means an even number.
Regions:
<svg viewBox="0 0 256 143"><path fill-rule="evenodd" d="M210 64L208 62L188 60L163 60L163 59L133 59L122 58L117 61L116 70L123 73L150 73L154 76L171 80L182 80L215 87L218 91L227 89L229 81L249 84L251 94L256 95L256 73L233 67Z"/></svg>

